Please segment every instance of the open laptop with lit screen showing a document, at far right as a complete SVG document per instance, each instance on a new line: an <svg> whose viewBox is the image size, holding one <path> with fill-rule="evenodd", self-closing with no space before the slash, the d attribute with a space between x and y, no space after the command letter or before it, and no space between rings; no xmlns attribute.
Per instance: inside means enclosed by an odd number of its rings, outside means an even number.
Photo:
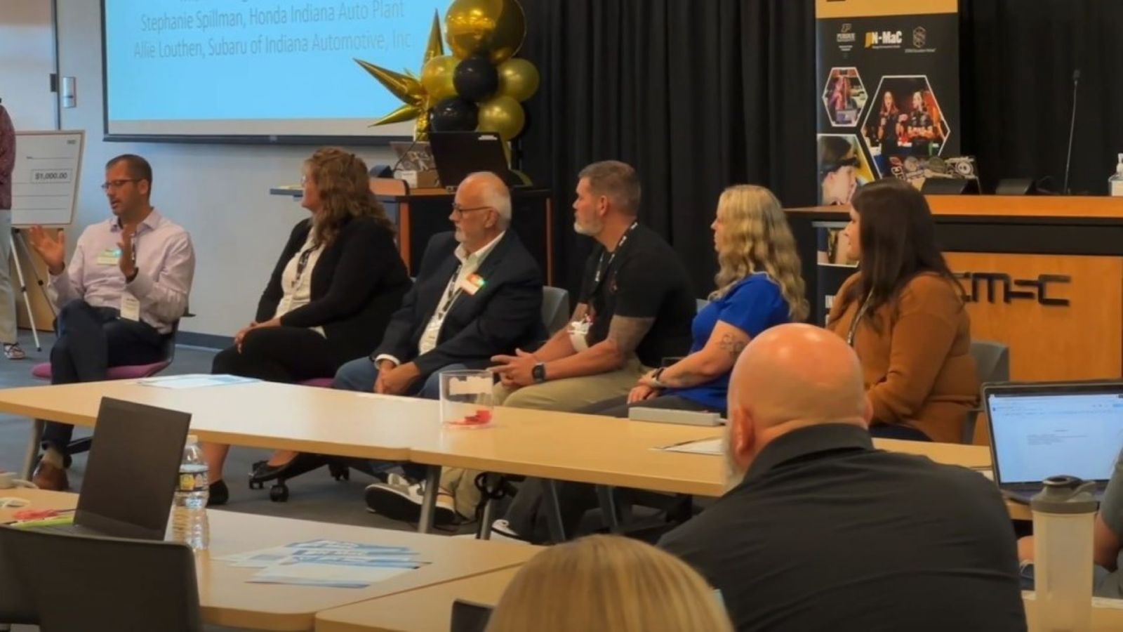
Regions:
<svg viewBox="0 0 1123 632"><path fill-rule="evenodd" d="M985 385L994 480L1029 503L1051 476L1096 482L1103 497L1123 449L1123 382Z"/></svg>

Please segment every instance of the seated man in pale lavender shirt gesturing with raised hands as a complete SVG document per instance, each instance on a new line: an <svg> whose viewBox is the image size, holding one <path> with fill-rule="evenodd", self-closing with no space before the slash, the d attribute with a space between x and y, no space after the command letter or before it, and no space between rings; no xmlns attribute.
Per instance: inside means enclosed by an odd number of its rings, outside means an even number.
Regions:
<svg viewBox="0 0 1123 632"><path fill-rule="evenodd" d="M106 164L101 186L113 217L82 232L66 265L66 237L30 229L51 273L58 317L51 383L103 380L109 367L158 362L166 336L188 310L195 252L188 232L153 208L152 166L124 154ZM66 489L64 460L74 427L47 423L33 482ZM127 481L121 481L126 484Z"/></svg>

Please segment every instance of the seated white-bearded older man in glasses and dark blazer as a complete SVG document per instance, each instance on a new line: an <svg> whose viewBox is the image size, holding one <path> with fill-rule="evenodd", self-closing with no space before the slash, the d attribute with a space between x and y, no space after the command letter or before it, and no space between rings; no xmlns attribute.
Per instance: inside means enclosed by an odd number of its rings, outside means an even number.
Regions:
<svg viewBox="0 0 1123 632"><path fill-rule="evenodd" d="M449 215L455 232L429 241L413 288L368 358L344 364L335 387L386 395L439 397L441 371L483 369L491 358L545 337L538 264L510 231L511 195L494 173L473 173L456 189ZM367 488L389 496L378 513L416 520L423 493L416 475ZM417 477L420 478L420 477ZM389 493L389 494L384 494ZM436 520L456 517L438 499Z"/></svg>

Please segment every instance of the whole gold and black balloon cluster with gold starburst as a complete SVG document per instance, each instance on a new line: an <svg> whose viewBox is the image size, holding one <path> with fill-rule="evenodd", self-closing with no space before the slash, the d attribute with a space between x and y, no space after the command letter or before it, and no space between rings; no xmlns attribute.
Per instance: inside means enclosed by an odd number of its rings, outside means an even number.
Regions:
<svg viewBox="0 0 1123 632"><path fill-rule="evenodd" d="M455 0L445 15L451 55L445 54L433 16L418 79L355 60L404 105L372 125L417 119L413 137L437 132L493 132L505 142L522 133L520 101L538 90L538 70L514 54L527 34L518 0Z"/></svg>

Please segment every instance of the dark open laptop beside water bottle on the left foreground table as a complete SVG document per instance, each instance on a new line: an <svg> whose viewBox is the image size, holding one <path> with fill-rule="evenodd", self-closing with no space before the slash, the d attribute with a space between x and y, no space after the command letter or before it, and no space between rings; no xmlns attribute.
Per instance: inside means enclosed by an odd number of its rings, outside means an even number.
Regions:
<svg viewBox="0 0 1123 632"><path fill-rule="evenodd" d="M62 533L163 540L190 413L102 398L74 524Z"/></svg>

